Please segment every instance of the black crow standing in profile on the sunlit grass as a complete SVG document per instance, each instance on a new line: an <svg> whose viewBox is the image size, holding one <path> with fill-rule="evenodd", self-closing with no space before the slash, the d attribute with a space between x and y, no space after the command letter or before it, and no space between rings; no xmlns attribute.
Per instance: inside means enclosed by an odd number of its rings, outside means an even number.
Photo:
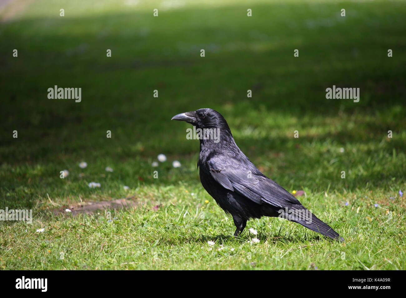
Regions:
<svg viewBox="0 0 406 298"><path fill-rule="evenodd" d="M204 189L231 214L237 237L253 218L282 217L304 227L344 241L291 193L262 174L235 144L224 117L214 109L198 109L172 117L196 127L200 139L197 167Z"/></svg>

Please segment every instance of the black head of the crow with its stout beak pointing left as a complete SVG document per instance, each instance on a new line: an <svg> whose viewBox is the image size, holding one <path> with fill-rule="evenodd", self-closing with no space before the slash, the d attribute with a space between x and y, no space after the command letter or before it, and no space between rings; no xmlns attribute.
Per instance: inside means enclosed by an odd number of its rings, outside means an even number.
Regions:
<svg viewBox="0 0 406 298"><path fill-rule="evenodd" d="M214 109L198 109L173 116L171 120L186 121L197 128L230 130L226 120Z"/></svg>

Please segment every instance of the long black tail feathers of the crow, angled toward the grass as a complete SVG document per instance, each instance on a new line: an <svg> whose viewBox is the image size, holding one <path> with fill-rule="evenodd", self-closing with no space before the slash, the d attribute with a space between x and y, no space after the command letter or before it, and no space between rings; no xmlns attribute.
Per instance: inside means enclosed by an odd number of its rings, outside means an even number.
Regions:
<svg viewBox="0 0 406 298"><path fill-rule="evenodd" d="M295 208L298 207L298 208ZM291 212L294 211L294 212ZM344 241L340 235L335 232L328 224L324 223L318 219L313 213L304 208L303 206L292 206L292 209L289 210L289 219L295 223L300 223L302 226L311 229L314 232L320 233L324 236L330 237L334 240ZM294 217L291 217L294 215Z"/></svg>

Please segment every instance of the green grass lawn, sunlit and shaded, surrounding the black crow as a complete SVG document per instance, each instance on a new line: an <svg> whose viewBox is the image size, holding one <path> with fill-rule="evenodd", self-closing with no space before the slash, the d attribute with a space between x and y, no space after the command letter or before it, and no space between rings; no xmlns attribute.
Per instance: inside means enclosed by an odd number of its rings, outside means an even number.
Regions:
<svg viewBox="0 0 406 298"><path fill-rule="evenodd" d="M405 2L160 2L0 12L0 209L33 210L32 224L0 221L0 268L406 269ZM81 87L82 102L48 99L54 85ZM360 88L359 103L326 99L333 85ZM202 107L346 242L276 218L231 237L231 217L200 184L198 141L170 121ZM152 167L160 153L168 161ZM136 206L111 217L64 211L125 197Z"/></svg>

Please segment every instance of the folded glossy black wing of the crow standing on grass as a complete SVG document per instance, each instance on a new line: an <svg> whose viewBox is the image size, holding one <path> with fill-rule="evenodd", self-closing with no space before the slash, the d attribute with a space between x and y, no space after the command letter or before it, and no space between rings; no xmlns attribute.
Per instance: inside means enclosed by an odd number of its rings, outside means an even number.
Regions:
<svg viewBox="0 0 406 298"><path fill-rule="evenodd" d="M216 155L207 161L210 174L222 187L235 191L257 204L279 208L300 204L283 187L263 175L245 156L236 159Z"/></svg>

